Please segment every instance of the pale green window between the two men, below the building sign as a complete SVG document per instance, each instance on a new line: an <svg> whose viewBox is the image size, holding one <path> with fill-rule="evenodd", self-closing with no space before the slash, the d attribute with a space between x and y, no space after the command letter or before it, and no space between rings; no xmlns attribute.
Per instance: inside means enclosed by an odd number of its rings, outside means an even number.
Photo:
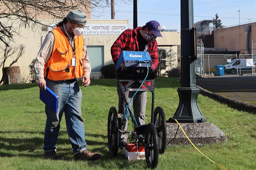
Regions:
<svg viewBox="0 0 256 170"><path fill-rule="evenodd" d="M100 72L104 65L104 46L87 46L92 72Z"/></svg>

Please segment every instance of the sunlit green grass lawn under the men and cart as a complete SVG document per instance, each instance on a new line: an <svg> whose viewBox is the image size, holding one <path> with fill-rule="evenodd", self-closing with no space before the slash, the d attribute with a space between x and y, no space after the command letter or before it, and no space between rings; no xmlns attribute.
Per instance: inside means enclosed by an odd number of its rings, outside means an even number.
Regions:
<svg viewBox="0 0 256 170"><path fill-rule="evenodd" d="M80 82L81 85L81 82ZM179 104L177 78L156 79L155 106L172 117ZM83 92L82 117L87 149L100 152L94 162L74 161L65 119L58 138L58 153L63 160L44 158L44 104L36 84L0 86L0 169L146 169L143 160L129 162L119 151L110 157L107 144L108 110L116 106L116 80L92 80ZM226 144L198 146L206 156L227 169L256 169L256 116L199 95L198 104L208 122L227 135ZM150 119L151 93L148 92L146 117ZM63 115L64 116L64 115ZM146 120L148 123L148 120ZM131 123L129 123L131 125ZM157 169L220 169L193 146L167 147L159 156Z"/></svg>

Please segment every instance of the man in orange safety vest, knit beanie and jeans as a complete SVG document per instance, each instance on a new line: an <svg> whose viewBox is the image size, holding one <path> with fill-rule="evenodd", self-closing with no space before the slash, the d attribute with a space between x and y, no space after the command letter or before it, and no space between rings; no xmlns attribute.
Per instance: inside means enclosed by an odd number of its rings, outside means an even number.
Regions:
<svg viewBox="0 0 256 170"><path fill-rule="evenodd" d="M35 74L38 86L46 86L59 96L58 112L45 106L44 153L47 158L61 159L56 153L60 121L65 113L68 137L76 160L95 160L101 155L86 150L84 120L81 117L82 92L76 81L83 75L82 85L90 85L91 66L84 36L86 15L72 10L57 28L50 31L36 56Z"/></svg>

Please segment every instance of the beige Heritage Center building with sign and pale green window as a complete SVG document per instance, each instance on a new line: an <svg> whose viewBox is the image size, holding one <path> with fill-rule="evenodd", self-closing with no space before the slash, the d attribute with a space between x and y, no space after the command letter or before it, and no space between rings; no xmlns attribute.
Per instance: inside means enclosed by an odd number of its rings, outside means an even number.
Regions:
<svg viewBox="0 0 256 170"><path fill-rule="evenodd" d="M55 25L57 21L52 19L44 19L42 23L45 25ZM19 27L19 35L15 35L15 43L11 43L13 46L23 44L25 46L25 53L17 63L13 66L20 66L21 81L28 83L30 79L28 65L36 58L36 55L44 41L45 35L51 30L51 27L47 26L35 26L33 28ZM129 28L129 20L123 19L88 19L86 27L84 29L84 36L86 37L88 55L92 66L91 78L100 78L100 68L103 65L113 63L110 48L117 37L125 30ZM158 46L164 48L170 48L175 51L177 46L180 45L180 36L177 32L163 33L163 38L157 38ZM1 44L3 46L3 44ZM3 56L3 51L0 52L0 56ZM13 61L13 57L9 57L5 63L5 66ZM177 60L177 56L176 61ZM175 63L177 65L177 62ZM1 63L0 63L1 66ZM2 67L1 67L2 68ZM166 68L168 70L168 68ZM0 69L0 75L2 75L2 69Z"/></svg>

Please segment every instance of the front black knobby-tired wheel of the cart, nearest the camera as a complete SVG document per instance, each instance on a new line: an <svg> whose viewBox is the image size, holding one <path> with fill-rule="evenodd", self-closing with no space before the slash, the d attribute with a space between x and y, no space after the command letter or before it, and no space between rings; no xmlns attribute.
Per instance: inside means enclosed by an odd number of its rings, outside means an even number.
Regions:
<svg viewBox="0 0 256 170"><path fill-rule="evenodd" d="M158 164L159 148L156 126L153 123L148 123L144 147L147 166L151 169L155 169Z"/></svg>

